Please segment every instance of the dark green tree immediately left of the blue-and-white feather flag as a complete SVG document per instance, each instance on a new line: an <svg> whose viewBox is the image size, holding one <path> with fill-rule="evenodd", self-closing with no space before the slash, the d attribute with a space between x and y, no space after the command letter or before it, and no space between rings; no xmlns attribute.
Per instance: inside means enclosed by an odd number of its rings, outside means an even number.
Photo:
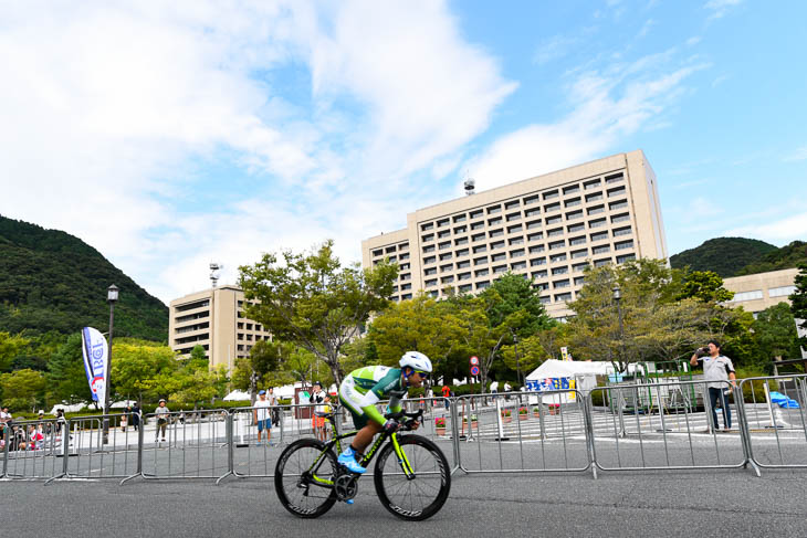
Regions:
<svg viewBox="0 0 807 538"><path fill-rule="evenodd" d="M82 337L74 334L59 347L48 362L48 400L75 403L92 399L82 356Z"/></svg>

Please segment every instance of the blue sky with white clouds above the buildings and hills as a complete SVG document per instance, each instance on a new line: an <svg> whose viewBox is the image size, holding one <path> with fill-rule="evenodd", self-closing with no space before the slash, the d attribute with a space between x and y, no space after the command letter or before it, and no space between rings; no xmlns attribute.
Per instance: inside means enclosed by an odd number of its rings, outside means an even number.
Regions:
<svg viewBox="0 0 807 538"><path fill-rule="evenodd" d="M641 148L670 253L807 240L807 3L0 0L0 213L164 300Z"/></svg>

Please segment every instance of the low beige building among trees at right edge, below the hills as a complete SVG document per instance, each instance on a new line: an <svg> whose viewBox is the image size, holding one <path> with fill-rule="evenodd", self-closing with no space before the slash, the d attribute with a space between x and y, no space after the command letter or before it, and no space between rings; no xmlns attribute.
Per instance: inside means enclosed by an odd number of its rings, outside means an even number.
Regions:
<svg viewBox="0 0 807 538"><path fill-rule="evenodd" d="M789 268L733 276L723 279L723 287L734 292L734 298L729 302L730 306L742 306L756 316L757 313L779 303L790 304L787 297L796 291L797 274L797 268Z"/></svg>

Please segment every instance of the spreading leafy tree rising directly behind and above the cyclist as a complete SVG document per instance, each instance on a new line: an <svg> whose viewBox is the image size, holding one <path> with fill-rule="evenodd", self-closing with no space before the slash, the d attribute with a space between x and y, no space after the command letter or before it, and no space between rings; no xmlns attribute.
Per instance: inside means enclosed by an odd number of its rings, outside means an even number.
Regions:
<svg viewBox="0 0 807 538"><path fill-rule="evenodd" d="M387 261L370 270L358 264L343 267L333 241L308 254L264 254L239 271L249 302L244 315L263 324L275 338L324 361L337 383L344 376L343 347L360 333L371 313L387 307L398 275L397 265Z"/></svg>

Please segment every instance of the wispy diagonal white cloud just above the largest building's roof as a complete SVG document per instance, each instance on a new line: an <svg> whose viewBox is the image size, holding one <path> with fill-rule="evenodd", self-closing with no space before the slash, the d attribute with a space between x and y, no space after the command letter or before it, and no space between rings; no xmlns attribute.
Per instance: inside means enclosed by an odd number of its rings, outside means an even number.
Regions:
<svg viewBox="0 0 807 538"><path fill-rule="evenodd" d="M575 74L570 112L554 124L530 125L505 135L467 165L479 190L491 189L601 157L616 140L658 118L704 64L671 67L675 50ZM631 148L633 149L633 148Z"/></svg>

